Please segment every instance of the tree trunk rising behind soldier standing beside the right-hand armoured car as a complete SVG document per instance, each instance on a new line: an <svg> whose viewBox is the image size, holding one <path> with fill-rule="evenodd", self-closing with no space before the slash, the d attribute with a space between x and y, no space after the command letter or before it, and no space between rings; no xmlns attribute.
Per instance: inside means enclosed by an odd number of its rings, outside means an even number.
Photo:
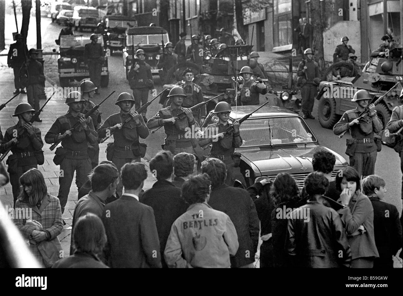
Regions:
<svg viewBox="0 0 403 296"><path fill-rule="evenodd" d="M310 16L312 18L312 47L315 53L315 60L319 64L319 70L324 70L324 50L323 50L323 32L326 27L325 1L311 0Z"/></svg>

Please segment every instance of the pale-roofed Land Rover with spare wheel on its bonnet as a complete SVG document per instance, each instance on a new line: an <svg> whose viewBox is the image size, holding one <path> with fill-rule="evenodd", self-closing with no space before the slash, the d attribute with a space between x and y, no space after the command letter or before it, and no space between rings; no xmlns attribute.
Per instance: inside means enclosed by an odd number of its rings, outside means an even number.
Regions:
<svg viewBox="0 0 403 296"><path fill-rule="evenodd" d="M158 75L158 60L162 54L161 42L169 42L168 32L162 27L135 27L126 30L125 48L123 48L123 66L126 78L132 62L132 54L142 49L145 52L145 62L151 66L152 75ZM134 47L134 52L133 52Z"/></svg>

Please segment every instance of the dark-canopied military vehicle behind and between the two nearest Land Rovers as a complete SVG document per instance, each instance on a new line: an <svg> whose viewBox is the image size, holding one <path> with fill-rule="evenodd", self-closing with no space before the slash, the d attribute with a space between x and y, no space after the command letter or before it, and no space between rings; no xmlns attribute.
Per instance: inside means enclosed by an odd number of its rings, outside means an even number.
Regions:
<svg viewBox="0 0 403 296"><path fill-rule="evenodd" d="M111 54L114 50L123 50L127 28L137 27L135 19L121 15L108 15L104 17L104 23L104 47L109 48Z"/></svg>

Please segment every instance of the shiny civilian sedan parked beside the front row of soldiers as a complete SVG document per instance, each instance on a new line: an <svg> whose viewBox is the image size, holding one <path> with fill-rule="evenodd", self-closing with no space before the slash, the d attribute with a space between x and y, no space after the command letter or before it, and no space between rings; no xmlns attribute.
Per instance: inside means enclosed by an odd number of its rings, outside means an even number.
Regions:
<svg viewBox="0 0 403 296"><path fill-rule="evenodd" d="M239 120L258 106L238 106L230 114L230 121ZM203 130L208 124L218 120L209 112L206 121L200 126ZM243 144L235 151L241 153L240 181L246 186L270 178L278 173L289 173L299 187L305 177L313 172L312 157L316 151L325 150L334 154L336 164L332 177L337 171L348 166L346 159L338 153L319 144L314 133L301 116L285 108L264 106L253 113L240 126ZM199 161L208 155L210 148L196 147Z"/></svg>

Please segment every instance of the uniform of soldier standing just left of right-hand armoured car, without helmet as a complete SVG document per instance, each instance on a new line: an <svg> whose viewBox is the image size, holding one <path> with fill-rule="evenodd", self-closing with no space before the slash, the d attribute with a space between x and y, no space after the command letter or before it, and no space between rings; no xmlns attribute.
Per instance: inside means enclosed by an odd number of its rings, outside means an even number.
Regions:
<svg viewBox="0 0 403 296"><path fill-rule="evenodd" d="M305 73L302 71L307 66ZM319 66L314 60L303 60L298 65L297 76L301 77L301 97L302 97L302 113L311 114L316 95L316 83L314 78L319 78Z"/></svg>

